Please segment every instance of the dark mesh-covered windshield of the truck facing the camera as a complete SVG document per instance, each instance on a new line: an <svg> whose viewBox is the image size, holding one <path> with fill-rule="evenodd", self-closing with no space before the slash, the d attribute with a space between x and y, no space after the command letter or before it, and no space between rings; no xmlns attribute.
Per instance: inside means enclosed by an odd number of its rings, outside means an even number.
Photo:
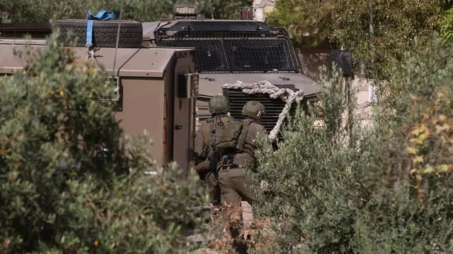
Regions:
<svg viewBox="0 0 453 254"><path fill-rule="evenodd" d="M181 21L155 37L159 47L195 47L200 72L298 70L285 30L264 23Z"/></svg>

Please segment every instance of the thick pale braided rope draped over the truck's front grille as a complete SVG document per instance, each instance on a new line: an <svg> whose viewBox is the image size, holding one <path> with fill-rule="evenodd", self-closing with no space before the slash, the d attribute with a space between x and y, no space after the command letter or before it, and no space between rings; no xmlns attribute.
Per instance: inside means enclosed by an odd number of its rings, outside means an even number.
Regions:
<svg viewBox="0 0 453 254"><path fill-rule="evenodd" d="M304 99L304 91L299 90L297 92L294 92L289 88L279 88L275 85L272 85L268 80L262 80L258 83L253 84L243 83L242 81L238 80L234 84L224 84L222 85L222 87L226 89L240 89L247 95L256 95L258 93L267 94L271 99L280 98L286 103L282 112L280 112L280 115L278 116L277 123L275 124L273 130L269 133L269 139L271 141L277 140L280 127L283 124L283 120L285 120L287 114L289 113L289 109L291 109L292 103L300 102L302 99Z"/></svg>

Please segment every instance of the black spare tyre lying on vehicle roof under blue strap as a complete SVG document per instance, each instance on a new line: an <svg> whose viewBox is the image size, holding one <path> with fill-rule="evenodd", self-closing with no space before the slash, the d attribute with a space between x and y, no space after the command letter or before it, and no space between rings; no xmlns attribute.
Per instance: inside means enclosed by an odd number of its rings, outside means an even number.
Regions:
<svg viewBox="0 0 453 254"><path fill-rule="evenodd" d="M59 28L59 39L62 42L73 41L76 37L77 47L86 47L86 23L88 20L57 20L54 25ZM100 21L93 20L93 47L115 47L118 29L118 20ZM68 35L68 32L72 32ZM69 40L68 40L69 39ZM120 48L142 47L143 28L142 23L134 20L122 20L120 29ZM68 44L68 43L67 43Z"/></svg>

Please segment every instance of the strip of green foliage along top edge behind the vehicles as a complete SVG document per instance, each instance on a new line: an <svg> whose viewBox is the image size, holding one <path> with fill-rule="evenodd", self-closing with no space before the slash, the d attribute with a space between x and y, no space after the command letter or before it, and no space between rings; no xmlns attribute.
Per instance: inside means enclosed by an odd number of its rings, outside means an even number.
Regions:
<svg viewBox="0 0 453 254"><path fill-rule="evenodd" d="M201 0L201 1L182 1L182 0L147 0L147 1L125 1L122 18L127 20L137 20L139 22L150 22L156 18L168 18L173 13L173 4L176 2L198 2L201 12L207 18L236 18L240 6L251 6L251 0L241 1L220 1L220 0ZM84 19L87 11L96 13L101 10L113 11L116 18L120 16L121 0L105 1L0 1L0 6L11 8L11 11L4 12L6 21L12 23L39 23L49 20L59 20L64 18ZM5 21L4 21L5 22Z"/></svg>

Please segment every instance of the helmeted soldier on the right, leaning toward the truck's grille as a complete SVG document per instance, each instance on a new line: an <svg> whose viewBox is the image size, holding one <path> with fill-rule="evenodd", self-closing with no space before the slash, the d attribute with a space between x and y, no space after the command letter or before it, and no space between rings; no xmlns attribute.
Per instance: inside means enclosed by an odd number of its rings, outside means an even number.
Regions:
<svg viewBox="0 0 453 254"><path fill-rule="evenodd" d="M224 155L218 164L222 203L241 205L244 212L246 209L251 212L250 205L254 201L254 197L244 186L246 176L243 169L256 169L255 140L258 135L264 135L268 140L268 131L260 124L264 114L265 107L260 102L251 101L244 105L242 115L246 116L246 119L242 121L243 126L236 145L236 152L234 155ZM241 201L247 201L248 204L246 202L241 204ZM246 218L244 218L245 220Z"/></svg>

